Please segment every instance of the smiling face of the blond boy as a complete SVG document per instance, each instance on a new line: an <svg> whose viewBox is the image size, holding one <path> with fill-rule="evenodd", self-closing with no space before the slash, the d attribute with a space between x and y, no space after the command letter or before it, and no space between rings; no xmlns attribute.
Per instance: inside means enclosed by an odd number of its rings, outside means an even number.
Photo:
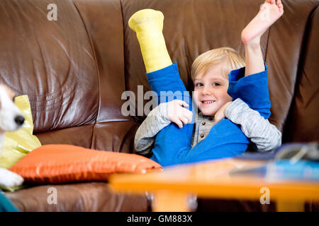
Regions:
<svg viewBox="0 0 319 226"><path fill-rule="evenodd" d="M228 78L224 76L224 62L198 73L194 79L194 102L204 115L215 115L225 103L232 100L228 95Z"/></svg>

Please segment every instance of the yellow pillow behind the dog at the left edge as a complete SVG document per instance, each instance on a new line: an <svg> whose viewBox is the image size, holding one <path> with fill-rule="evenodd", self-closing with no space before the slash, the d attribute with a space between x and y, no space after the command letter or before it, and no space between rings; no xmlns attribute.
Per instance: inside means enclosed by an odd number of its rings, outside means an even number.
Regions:
<svg viewBox="0 0 319 226"><path fill-rule="evenodd" d="M33 136L33 119L28 95L16 97L14 103L21 110L25 121L21 129L6 132L0 155L0 167L6 169L15 165L18 160L21 160L34 148L41 146L38 138ZM4 189L11 190L9 188Z"/></svg>

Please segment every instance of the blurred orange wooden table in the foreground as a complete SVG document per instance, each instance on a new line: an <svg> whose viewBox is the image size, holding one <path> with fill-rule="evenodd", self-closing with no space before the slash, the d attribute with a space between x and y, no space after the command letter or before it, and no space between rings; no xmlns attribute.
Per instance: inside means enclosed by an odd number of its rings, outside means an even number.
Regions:
<svg viewBox="0 0 319 226"><path fill-rule="evenodd" d="M319 201L319 183L233 175L236 169L263 165L259 160L228 158L192 165L166 167L162 172L114 174L114 191L153 193L153 211L189 211L190 194L203 198L276 201L279 211L303 211L306 201Z"/></svg>

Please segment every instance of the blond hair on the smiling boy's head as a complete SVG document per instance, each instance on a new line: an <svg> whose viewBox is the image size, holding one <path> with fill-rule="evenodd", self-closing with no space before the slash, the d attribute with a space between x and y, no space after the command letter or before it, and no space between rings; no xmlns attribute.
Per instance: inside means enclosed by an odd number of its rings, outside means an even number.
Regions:
<svg viewBox="0 0 319 226"><path fill-rule="evenodd" d="M228 78L230 71L245 66L245 59L240 57L240 54L230 47L211 49L194 60L191 65L191 80L194 81L198 73L203 72L205 74L212 66L220 63L224 63L223 76Z"/></svg>

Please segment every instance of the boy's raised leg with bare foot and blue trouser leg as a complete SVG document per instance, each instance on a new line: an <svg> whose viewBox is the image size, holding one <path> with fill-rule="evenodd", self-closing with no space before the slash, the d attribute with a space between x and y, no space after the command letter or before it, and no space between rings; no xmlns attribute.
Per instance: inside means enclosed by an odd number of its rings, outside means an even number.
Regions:
<svg viewBox="0 0 319 226"><path fill-rule="evenodd" d="M280 0L266 0L259 13L242 30L245 68L230 71L228 94L240 98L265 119L270 116L267 66L262 57L260 37L284 13Z"/></svg>

